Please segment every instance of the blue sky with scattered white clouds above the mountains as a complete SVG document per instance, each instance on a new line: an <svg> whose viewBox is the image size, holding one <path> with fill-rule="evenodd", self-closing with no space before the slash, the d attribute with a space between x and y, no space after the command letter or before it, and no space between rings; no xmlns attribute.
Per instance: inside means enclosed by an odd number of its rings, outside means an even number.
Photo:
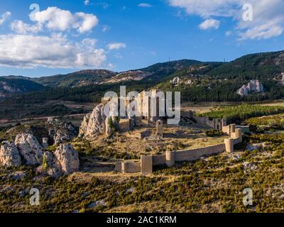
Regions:
<svg viewBox="0 0 284 227"><path fill-rule="evenodd" d="M284 50L283 9L284 0L0 1L0 75L121 72Z"/></svg>

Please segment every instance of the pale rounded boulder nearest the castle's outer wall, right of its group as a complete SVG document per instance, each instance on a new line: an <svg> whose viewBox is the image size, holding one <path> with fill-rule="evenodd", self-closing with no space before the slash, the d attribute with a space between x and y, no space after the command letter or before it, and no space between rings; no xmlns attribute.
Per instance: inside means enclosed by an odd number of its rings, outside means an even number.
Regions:
<svg viewBox="0 0 284 227"><path fill-rule="evenodd" d="M70 144L61 144L54 153L62 172L69 175L79 170L80 161L77 151Z"/></svg>

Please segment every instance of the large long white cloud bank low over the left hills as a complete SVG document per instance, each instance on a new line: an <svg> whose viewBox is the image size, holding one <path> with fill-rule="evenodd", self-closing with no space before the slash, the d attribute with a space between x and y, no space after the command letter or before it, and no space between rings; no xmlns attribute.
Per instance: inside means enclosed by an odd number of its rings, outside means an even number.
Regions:
<svg viewBox="0 0 284 227"><path fill-rule="evenodd" d="M72 42L65 36L0 35L0 65L8 67L101 67L106 53L95 40Z"/></svg>

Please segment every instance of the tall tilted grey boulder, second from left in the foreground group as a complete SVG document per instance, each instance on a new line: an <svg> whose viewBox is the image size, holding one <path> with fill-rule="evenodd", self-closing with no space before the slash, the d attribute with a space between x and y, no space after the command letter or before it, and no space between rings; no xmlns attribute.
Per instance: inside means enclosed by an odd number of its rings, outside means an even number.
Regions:
<svg viewBox="0 0 284 227"><path fill-rule="evenodd" d="M26 161L26 165L38 165L43 161L43 147L31 134L21 133L16 135L15 144Z"/></svg>

